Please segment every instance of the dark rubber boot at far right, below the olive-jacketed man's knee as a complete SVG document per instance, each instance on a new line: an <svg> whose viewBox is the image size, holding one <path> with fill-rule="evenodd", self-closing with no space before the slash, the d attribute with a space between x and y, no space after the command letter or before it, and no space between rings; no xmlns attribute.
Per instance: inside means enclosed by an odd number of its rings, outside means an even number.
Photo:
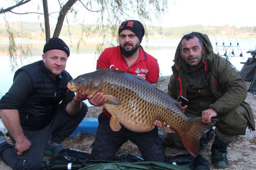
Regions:
<svg viewBox="0 0 256 170"><path fill-rule="evenodd" d="M221 142L217 136L212 145L212 163L214 168L227 168L228 158L227 158L227 147L229 143Z"/></svg>

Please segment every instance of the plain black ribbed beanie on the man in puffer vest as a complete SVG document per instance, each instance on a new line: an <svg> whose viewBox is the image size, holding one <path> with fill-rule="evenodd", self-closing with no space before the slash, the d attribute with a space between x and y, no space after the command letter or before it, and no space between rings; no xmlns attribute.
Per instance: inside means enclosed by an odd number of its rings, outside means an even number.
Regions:
<svg viewBox="0 0 256 170"><path fill-rule="evenodd" d="M68 56L70 54L67 44L60 38L50 38L50 40L43 47L43 53L53 49L65 51Z"/></svg>

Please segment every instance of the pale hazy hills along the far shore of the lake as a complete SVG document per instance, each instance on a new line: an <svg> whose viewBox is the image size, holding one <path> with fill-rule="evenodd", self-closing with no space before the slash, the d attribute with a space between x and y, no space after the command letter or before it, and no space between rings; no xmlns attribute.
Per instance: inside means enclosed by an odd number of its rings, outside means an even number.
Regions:
<svg viewBox="0 0 256 170"><path fill-rule="evenodd" d="M15 22L10 24L12 30L14 30L14 37L26 37L27 40L44 40L44 25L34 22ZM63 25L60 37L71 38L74 41L81 38L82 25ZM95 25L86 25L84 28L87 30L94 30ZM51 35L53 35L55 25L50 26ZM117 26L118 30L118 26ZM238 38L256 38L256 26L253 27L236 27L236 26L203 26L203 25L190 25L185 27L146 27L146 36L151 38L161 39L174 39L180 38L185 34L192 31L201 32L207 34L209 37L227 37L229 36ZM83 33L87 38L98 38L98 33ZM107 32L107 36L111 37L111 31ZM8 39L7 28L5 24L0 24L0 39Z"/></svg>

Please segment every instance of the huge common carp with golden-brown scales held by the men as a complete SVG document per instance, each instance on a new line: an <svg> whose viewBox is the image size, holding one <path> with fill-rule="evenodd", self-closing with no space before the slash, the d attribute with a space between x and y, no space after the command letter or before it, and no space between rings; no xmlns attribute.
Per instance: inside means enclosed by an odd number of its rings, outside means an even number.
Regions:
<svg viewBox="0 0 256 170"><path fill-rule="evenodd" d="M119 131L121 123L133 132L148 132L155 127L155 120L166 122L179 133L183 145L194 157L200 136L216 123L216 119L204 124L201 118L186 117L180 110L180 103L169 95L146 80L119 70L99 69L78 76L67 87L86 95L103 93L107 99L103 106L112 115L110 127L113 131ZM164 130L174 132L167 127Z"/></svg>

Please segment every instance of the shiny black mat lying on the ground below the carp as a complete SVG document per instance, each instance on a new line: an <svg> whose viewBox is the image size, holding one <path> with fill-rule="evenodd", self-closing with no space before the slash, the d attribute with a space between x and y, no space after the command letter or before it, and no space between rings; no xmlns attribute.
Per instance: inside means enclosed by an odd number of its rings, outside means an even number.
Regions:
<svg viewBox="0 0 256 170"><path fill-rule="evenodd" d="M144 159L140 156L133 154L123 154L116 156L113 161L104 161L104 160L91 160L90 153L73 150L73 149L65 149L60 151L54 157L52 157L47 165L48 169L51 170L66 170L72 169L77 170L80 168L101 164L109 166L111 163L115 163L115 165L111 165L118 169L118 167L124 167L125 163L135 163L133 166L138 166L136 169L140 169L141 166L146 166L148 162L149 165L157 167L157 169L191 169L191 170L210 170L209 162L201 155L197 155L196 158L191 156L190 154L183 154L177 156L166 156L165 163L154 162L154 161L144 161ZM136 163L138 163L136 165ZM145 164L143 164L145 163ZM166 163L169 163L168 165ZM147 164L146 167L149 167ZM46 168L45 168L46 169ZM85 168L86 169L86 168ZM93 169L93 168L92 168Z"/></svg>

